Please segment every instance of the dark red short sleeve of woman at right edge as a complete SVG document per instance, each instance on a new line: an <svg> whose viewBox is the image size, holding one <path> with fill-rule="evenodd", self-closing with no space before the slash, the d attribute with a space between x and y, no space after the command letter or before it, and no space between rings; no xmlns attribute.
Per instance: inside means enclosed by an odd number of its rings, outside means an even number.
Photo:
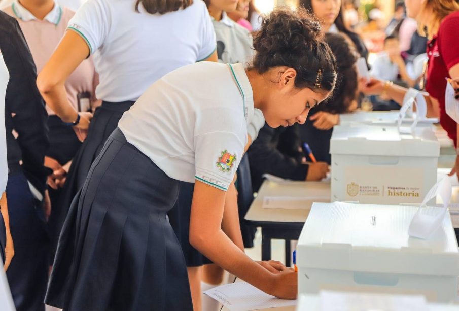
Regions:
<svg viewBox="0 0 459 311"><path fill-rule="evenodd" d="M459 63L459 40L457 29L459 27L459 15L446 18L441 24L439 37L440 54L448 70Z"/></svg>

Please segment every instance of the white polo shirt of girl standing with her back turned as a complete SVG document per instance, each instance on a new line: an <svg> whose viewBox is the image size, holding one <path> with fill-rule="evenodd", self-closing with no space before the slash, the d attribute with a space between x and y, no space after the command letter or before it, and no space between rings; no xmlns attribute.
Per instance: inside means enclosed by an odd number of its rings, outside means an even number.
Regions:
<svg viewBox="0 0 459 311"><path fill-rule="evenodd" d="M68 29L86 41L99 74L96 97L137 100L163 75L209 57L215 31L204 2L185 10L149 14L133 0L88 0Z"/></svg>

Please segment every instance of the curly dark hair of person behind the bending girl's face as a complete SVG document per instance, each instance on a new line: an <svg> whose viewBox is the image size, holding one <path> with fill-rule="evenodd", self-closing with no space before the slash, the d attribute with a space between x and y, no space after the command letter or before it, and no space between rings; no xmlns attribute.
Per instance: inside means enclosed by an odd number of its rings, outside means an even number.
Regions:
<svg viewBox="0 0 459 311"><path fill-rule="evenodd" d="M316 109L333 114L346 113L352 100L357 98L356 61L360 55L354 43L344 33L327 33L325 38L336 57L338 78L332 97Z"/></svg>

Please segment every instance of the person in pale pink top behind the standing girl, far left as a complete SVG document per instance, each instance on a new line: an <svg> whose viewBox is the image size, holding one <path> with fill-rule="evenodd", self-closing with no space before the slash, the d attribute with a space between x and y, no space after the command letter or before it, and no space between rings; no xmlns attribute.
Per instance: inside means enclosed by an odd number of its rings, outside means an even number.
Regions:
<svg viewBox="0 0 459 311"><path fill-rule="evenodd" d="M56 46L63 37L68 21L75 12L61 7L54 0L14 0L4 11L16 18L29 46L33 61L40 72ZM79 112L94 111L100 105L95 98L98 76L92 57L83 61L65 82L65 90L70 103ZM59 195L65 175L72 158L81 146L78 132L65 125L55 113L46 106L49 118L50 148L45 158L45 166L50 169L48 185L51 206L54 212L59 209ZM76 129L79 131L79 129ZM56 229L56 213L51 213L48 226L53 242L51 258L59 237Z"/></svg>

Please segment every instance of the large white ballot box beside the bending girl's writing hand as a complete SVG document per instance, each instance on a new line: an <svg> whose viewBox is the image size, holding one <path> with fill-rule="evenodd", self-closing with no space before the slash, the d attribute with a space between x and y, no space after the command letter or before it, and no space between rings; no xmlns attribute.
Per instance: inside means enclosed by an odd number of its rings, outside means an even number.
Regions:
<svg viewBox="0 0 459 311"><path fill-rule="evenodd" d="M459 250L449 213L429 239L408 235L413 206L314 203L297 246L298 291L457 297ZM437 208L424 208L433 214Z"/></svg>

